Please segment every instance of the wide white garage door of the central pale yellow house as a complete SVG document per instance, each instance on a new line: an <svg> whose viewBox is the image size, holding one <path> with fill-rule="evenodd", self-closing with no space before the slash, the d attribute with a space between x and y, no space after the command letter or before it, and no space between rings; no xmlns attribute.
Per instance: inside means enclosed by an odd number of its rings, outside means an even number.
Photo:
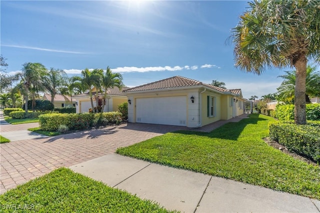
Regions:
<svg viewBox="0 0 320 213"><path fill-rule="evenodd" d="M186 96L137 98L136 122L186 126Z"/></svg>

